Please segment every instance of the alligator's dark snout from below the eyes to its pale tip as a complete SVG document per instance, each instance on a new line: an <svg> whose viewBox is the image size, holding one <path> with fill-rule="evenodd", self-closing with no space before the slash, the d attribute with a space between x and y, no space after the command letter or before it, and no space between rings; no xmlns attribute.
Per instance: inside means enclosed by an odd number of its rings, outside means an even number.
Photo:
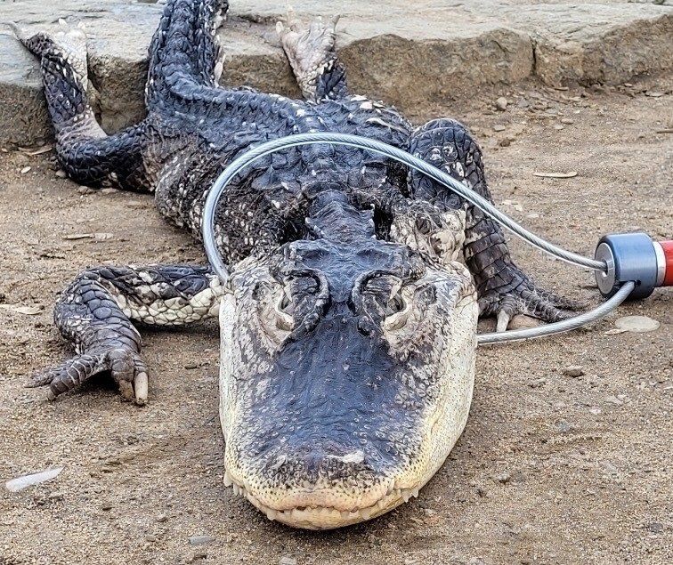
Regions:
<svg viewBox="0 0 673 565"><path fill-rule="evenodd" d="M240 448L227 480L270 518L304 528L362 521L402 502L390 496L401 457L391 430L406 428L409 439L414 427L395 406L385 344L335 310L280 352L264 402L251 399L245 434L228 439Z"/></svg>

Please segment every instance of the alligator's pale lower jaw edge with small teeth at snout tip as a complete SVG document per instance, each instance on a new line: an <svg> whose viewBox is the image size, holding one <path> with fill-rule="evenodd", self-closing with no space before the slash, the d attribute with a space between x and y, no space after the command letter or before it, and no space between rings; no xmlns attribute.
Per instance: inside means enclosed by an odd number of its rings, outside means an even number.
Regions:
<svg viewBox="0 0 673 565"><path fill-rule="evenodd" d="M288 510L275 510L260 502L247 488L234 482L229 472L224 473L224 484L228 487L231 486L235 494L247 498L257 510L266 514L269 520L280 521L293 528L302 529L343 528L376 518L409 501L412 496L418 496L418 488L393 488L387 495L380 498L377 504L352 511L340 511L333 506L304 506Z"/></svg>

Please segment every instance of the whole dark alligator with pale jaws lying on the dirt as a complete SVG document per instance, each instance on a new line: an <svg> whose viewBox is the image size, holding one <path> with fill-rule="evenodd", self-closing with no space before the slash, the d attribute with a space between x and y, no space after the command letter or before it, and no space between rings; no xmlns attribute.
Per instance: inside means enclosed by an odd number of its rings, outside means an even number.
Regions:
<svg viewBox="0 0 673 565"><path fill-rule="evenodd" d="M464 125L416 127L350 92L336 20L277 31L302 100L219 85L225 0L168 0L150 44L147 117L103 132L87 102L81 25L15 31L41 60L62 168L80 184L154 193L199 238L208 190L247 149L291 133L354 133L440 167L491 198ZM492 201L492 200L491 200ZM231 270L99 266L54 309L76 356L32 376L54 400L107 374L125 400L148 398L137 327L219 316L224 482L268 518L330 529L418 496L462 433L479 316L505 330L576 304L536 286L499 226L431 179L367 150L316 144L264 157L215 213ZM462 259L462 260L461 260ZM136 327L137 326L137 327Z"/></svg>

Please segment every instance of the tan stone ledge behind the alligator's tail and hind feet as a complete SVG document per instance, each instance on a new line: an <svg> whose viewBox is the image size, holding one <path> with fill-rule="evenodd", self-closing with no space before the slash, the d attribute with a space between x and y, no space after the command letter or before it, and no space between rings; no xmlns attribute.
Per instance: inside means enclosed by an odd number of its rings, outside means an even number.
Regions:
<svg viewBox="0 0 673 565"><path fill-rule="evenodd" d="M231 0L221 30L223 83L298 95L273 30L285 4ZM673 67L673 9L614 1L531 4L528 0L296 0L306 18L342 14L337 44L353 91L401 109L482 85L537 76L549 85L614 84ZM40 0L0 4L0 21L28 31L59 18L85 22L101 124L116 131L142 118L147 47L162 7L131 0ZM0 143L28 145L50 135L37 62L0 36Z"/></svg>

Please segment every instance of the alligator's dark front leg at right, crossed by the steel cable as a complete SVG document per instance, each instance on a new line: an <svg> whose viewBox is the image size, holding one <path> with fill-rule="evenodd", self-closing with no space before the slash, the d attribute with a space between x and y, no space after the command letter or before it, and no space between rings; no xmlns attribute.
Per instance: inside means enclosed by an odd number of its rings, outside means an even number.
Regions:
<svg viewBox="0 0 673 565"><path fill-rule="evenodd" d="M486 184L482 151L463 125L450 119L436 119L421 126L411 136L409 152L425 159L491 202ZM412 198L425 200L439 210L465 206L458 195L423 174L409 173ZM475 206L466 206L465 242L468 269L474 276L482 316L497 316L498 331L516 314L555 322L577 310L574 303L539 288L509 254L505 236L497 222Z"/></svg>

